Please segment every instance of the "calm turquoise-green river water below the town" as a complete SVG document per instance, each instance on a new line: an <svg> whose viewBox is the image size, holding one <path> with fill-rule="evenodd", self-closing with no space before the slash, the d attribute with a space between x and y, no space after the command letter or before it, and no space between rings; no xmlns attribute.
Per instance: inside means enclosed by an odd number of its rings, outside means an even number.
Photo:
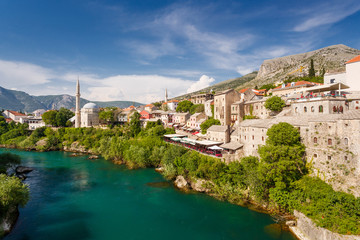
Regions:
<svg viewBox="0 0 360 240"><path fill-rule="evenodd" d="M269 215L180 192L153 169L64 152L5 151L34 168L25 181L30 201L5 240L295 239Z"/></svg>

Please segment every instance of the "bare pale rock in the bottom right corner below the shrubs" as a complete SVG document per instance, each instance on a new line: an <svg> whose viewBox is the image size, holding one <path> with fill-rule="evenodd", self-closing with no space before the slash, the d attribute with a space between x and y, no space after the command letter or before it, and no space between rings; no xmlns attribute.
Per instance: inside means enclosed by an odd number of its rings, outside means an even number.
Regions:
<svg viewBox="0 0 360 240"><path fill-rule="evenodd" d="M360 240L360 236L341 235L317 227L310 218L296 210L294 215L297 218L297 225L290 226L290 230L301 240Z"/></svg>

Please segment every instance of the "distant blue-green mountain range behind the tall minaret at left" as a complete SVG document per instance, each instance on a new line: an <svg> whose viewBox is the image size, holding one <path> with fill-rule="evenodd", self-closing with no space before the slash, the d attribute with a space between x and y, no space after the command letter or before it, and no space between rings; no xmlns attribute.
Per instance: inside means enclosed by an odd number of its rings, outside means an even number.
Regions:
<svg viewBox="0 0 360 240"><path fill-rule="evenodd" d="M87 99L80 99L80 106L90 102ZM99 107L120 107L126 108L131 105L142 105L138 102L131 101L109 101L99 102L93 101ZM8 109L22 112L33 112L36 109L60 109L65 107L68 109L75 108L75 96L67 94L63 95L46 95L46 96L31 96L25 92L9 90L0 87L0 109Z"/></svg>

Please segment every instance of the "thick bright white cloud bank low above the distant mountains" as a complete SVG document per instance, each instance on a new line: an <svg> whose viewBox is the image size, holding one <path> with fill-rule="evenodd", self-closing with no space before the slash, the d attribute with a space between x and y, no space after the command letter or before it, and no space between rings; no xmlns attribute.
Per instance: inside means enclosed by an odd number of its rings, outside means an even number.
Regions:
<svg viewBox="0 0 360 240"><path fill-rule="evenodd" d="M191 72L190 72L191 73ZM18 89L32 95L75 93L75 82L80 79L81 97L93 101L137 101L149 103L198 90L215 80L202 76L198 81L160 75L116 75L101 77L84 72L58 72L24 62L0 60L0 86ZM194 91L195 91L194 90Z"/></svg>

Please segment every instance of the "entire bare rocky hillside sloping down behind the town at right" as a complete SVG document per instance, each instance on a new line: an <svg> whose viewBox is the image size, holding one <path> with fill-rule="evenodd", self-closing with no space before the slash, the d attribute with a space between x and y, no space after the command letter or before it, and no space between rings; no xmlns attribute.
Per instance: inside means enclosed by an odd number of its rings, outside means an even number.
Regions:
<svg viewBox="0 0 360 240"><path fill-rule="evenodd" d="M264 84L284 80L287 77L298 76L299 72L289 73L301 66L303 67L302 74L307 74L311 59L314 60L316 74L319 74L323 68L326 72L342 72L345 71L345 62L359 54L360 50L339 44L311 52L268 59L261 64L258 72L255 71L239 78L229 79L199 91L179 96L176 99L190 98L191 95L210 92L211 89L219 92L229 88L240 90L245 87L261 87Z"/></svg>

